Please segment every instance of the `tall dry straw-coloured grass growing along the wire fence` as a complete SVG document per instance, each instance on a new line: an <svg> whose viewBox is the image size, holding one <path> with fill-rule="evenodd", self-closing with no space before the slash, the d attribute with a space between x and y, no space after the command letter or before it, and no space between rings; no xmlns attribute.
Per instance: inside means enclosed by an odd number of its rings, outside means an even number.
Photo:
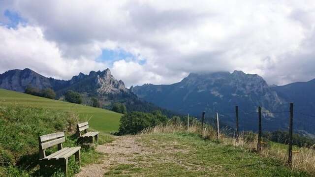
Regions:
<svg viewBox="0 0 315 177"><path fill-rule="evenodd" d="M217 140L217 132L214 127L205 125L204 128L201 128L200 122L193 121L192 125L187 128L187 125L183 123L169 123L165 126L158 125L153 128L147 128L143 130L142 134L147 133L194 133L198 134L204 139L208 140ZM224 145L232 145L235 147L246 149L249 152L256 153L257 147L257 134L254 134L254 140L248 141L245 138L244 133L241 133L239 136L239 140L227 137L224 134L220 135L219 141ZM287 164L288 153L287 147L284 145L268 142L267 145L263 146L261 149L260 155L262 157L273 158L280 161L283 165ZM281 146L279 148L279 146ZM312 175L315 175L315 150L311 148L298 148L297 152L294 152L292 155L292 165L291 169L296 171L305 171Z"/></svg>

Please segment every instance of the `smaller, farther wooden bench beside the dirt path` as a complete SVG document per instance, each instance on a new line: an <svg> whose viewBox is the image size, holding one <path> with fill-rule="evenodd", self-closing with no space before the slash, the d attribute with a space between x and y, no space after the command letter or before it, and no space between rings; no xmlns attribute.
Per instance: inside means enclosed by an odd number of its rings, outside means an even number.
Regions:
<svg viewBox="0 0 315 177"><path fill-rule="evenodd" d="M94 143L94 137L95 141L98 142L98 132L88 132L89 128L89 122L83 122L77 124L77 135L79 139L86 142L88 140L90 143ZM84 134L81 134L81 132L84 132Z"/></svg>

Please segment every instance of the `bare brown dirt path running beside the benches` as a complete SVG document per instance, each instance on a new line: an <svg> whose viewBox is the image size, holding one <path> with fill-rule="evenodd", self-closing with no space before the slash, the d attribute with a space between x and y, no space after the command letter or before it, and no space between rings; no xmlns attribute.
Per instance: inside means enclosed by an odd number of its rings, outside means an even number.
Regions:
<svg viewBox="0 0 315 177"><path fill-rule="evenodd" d="M120 136L112 143L97 146L96 150L105 153L105 158L97 164L82 167L76 177L103 177L109 171L111 164L124 163L132 164L128 157L133 154L150 153L140 142L136 141L137 136Z"/></svg>

